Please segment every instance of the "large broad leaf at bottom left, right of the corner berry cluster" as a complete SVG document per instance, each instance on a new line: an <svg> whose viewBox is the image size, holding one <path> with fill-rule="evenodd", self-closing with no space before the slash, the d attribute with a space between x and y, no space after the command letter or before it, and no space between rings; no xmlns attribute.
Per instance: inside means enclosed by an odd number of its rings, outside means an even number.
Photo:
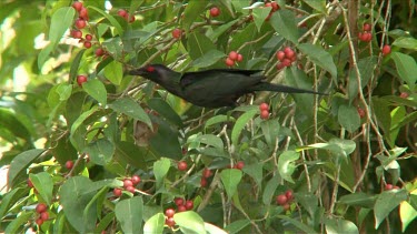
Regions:
<svg viewBox="0 0 417 234"><path fill-rule="evenodd" d="M75 176L68 179L59 191L60 204L68 222L80 233L92 232L96 228L97 210L90 208L85 214L85 208L95 196L96 192L86 193L91 185L88 177Z"/></svg>

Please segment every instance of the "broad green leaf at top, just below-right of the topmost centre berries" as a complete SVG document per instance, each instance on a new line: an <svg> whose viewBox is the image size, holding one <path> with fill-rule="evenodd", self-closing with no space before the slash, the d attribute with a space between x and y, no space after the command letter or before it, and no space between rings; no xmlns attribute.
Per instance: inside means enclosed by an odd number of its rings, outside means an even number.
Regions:
<svg viewBox="0 0 417 234"><path fill-rule="evenodd" d="M270 18L270 23L285 39L298 44L299 32L296 22L296 14L286 9L276 11Z"/></svg>

